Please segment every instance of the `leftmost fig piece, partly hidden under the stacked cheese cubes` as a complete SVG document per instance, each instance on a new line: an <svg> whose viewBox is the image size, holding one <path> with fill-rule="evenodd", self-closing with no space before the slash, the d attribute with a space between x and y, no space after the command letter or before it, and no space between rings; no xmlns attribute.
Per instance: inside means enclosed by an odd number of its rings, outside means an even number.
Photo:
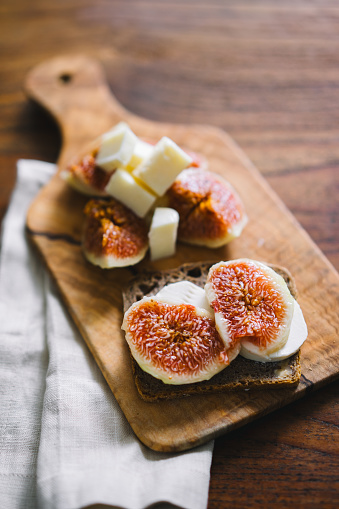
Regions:
<svg viewBox="0 0 339 509"><path fill-rule="evenodd" d="M114 170L107 172L96 164L98 148L71 162L62 178L76 191L88 196L106 196L105 187Z"/></svg>

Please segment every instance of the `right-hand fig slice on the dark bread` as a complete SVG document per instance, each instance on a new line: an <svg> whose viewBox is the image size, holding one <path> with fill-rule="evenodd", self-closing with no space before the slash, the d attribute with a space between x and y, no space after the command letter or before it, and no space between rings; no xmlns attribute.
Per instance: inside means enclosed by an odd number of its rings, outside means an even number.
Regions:
<svg viewBox="0 0 339 509"><path fill-rule="evenodd" d="M240 341L263 356L285 345L294 299L273 269L245 258L219 262L209 270L205 291L227 347Z"/></svg>

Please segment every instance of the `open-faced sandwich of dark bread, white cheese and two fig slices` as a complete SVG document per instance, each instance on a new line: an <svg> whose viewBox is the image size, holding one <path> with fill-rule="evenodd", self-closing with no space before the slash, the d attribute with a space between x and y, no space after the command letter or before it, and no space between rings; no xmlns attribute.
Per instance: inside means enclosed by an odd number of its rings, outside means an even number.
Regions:
<svg viewBox="0 0 339 509"><path fill-rule="evenodd" d="M307 327L284 268L240 259L144 274L124 309L145 400L299 382Z"/></svg>

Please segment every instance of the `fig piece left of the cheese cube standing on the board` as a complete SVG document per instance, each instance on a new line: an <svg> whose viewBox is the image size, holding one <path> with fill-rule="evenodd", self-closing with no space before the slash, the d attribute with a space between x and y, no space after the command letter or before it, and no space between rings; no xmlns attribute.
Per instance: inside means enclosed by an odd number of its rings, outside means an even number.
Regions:
<svg viewBox="0 0 339 509"><path fill-rule="evenodd" d="M92 199L84 213L82 248L88 261L107 269L142 260L148 249L143 219L114 199Z"/></svg>

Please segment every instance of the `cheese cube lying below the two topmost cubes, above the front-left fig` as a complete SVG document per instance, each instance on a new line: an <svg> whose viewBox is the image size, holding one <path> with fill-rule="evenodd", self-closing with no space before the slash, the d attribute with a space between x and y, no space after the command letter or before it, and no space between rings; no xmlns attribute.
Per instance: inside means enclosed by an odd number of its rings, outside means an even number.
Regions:
<svg viewBox="0 0 339 509"><path fill-rule="evenodd" d="M121 168L109 179L105 191L139 216L144 217L156 200L156 196L140 185L130 173Z"/></svg>

